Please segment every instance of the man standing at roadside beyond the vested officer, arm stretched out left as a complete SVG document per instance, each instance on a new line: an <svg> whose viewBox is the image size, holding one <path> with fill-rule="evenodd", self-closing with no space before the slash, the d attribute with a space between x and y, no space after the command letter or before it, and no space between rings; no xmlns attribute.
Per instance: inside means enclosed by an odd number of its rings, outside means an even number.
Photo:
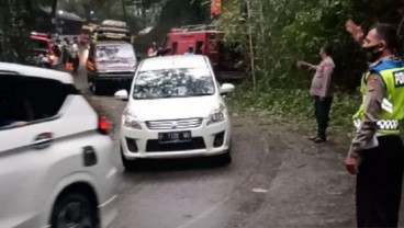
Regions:
<svg viewBox="0 0 404 228"><path fill-rule="evenodd" d="M316 144L327 140L326 130L329 122L329 111L333 103L332 76L335 68L332 58L332 48L328 45L319 49L322 61L312 65L306 61L298 61L298 67L307 66L315 70L310 93L314 98L314 115L317 121L317 135L310 137Z"/></svg>

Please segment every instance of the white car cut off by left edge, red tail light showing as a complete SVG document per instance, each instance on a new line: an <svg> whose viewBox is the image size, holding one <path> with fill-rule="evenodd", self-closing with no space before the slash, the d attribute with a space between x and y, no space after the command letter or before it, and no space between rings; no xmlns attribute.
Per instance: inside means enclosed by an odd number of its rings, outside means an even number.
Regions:
<svg viewBox="0 0 404 228"><path fill-rule="evenodd" d="M0 62L0 227L106 227L113 141L65 72Z"/></svg>

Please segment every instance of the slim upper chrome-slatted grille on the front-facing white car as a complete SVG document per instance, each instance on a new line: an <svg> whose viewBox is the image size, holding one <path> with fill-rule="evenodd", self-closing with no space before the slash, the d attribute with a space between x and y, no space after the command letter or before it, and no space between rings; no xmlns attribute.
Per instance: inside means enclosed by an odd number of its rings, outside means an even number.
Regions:
<svg viewBox="0 0 404 228"><path fill-rule="evenodd" d="M200 127L202 118L183 118L172 121L149 121L146 125L149 129L192 129Z"/></svg>

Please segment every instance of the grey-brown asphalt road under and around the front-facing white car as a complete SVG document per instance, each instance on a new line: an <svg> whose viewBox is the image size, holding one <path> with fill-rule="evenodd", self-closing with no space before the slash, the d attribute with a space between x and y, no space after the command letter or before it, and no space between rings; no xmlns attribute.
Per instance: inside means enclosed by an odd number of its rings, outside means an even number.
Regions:
<svg viewBox="0 0 404 228"><path fill-rule="evenodd" d="M75 79L114 122L117 138L125 103L93 96L85 69ZM232 121L227 167L201 158L122 169L119 216L111 228L355 227L355 179L346 173L341 152L348 145L313 145L291 127L235 113ZM117 148L116 141L120 163Z"/></svg>

